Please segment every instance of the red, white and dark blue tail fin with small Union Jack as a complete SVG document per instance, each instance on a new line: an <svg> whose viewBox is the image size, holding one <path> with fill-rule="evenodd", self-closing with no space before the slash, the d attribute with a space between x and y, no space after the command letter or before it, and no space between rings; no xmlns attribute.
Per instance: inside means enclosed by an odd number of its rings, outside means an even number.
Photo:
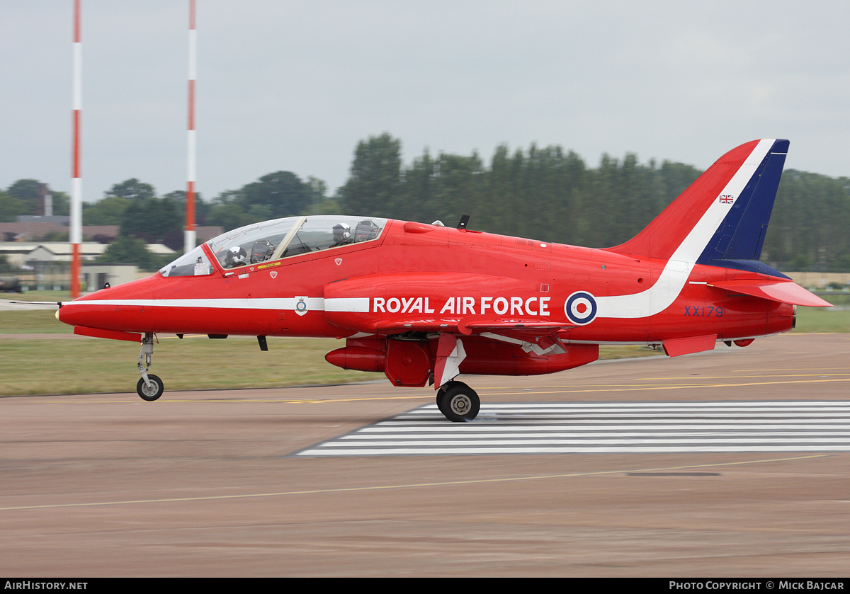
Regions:
<svg viewBox="0 0 850 594"><path fill-rule="evenodd" d="M730 150L646 229L609 251L779 274L754 261L762 254L788 145L764 139Z"/></svg>

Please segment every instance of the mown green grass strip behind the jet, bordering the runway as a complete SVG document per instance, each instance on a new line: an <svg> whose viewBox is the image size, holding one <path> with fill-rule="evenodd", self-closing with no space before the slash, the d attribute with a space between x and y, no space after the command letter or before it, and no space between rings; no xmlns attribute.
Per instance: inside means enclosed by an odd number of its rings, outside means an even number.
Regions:
<svg viewBox="0 0 850 594"><path fill-rule="evenodd" d="M796 332L850 331L850 310L798 308ZM71 326L53 310L0 312L0 395L132 392L139 379L134 342L99 338L3 339L3 334L69 334ZM272 388L292 385L368 382L382 373L346 371L325 361L344 345L330 338L269 337L269 351L253 337L160 337L150 371L167 391L199 388ZM659 354L645 347L599 349L602 359Z"/></svg>

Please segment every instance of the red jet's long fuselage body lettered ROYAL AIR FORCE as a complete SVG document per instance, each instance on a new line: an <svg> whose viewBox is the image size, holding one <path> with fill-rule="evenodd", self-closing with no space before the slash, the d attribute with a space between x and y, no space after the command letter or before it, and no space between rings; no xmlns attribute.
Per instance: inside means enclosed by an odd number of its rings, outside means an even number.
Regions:
<svg viewBox="0 0 850 594"><path fill-rule="evenodd" d="M564 342L629 344L762 337L793 321L787 303L711 286L764 274L696 264L683 283L659 287L669 261L403 221L388 222L375 241L235 271L211 260L213 274L157 273L95 291L63 304L60 320L127 332L337 338L380 334L394 320L552 320L568 325L558 331ZM599 311L576 324L565 304L579 291ZM634 304L606 317L604 297Z"/></svg>

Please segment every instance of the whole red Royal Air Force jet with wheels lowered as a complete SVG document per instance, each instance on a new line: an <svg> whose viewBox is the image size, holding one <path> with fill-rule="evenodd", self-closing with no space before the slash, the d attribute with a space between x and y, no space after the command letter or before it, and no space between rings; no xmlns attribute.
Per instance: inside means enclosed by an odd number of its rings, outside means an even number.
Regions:
<svg viewBox="0 0 850 594"><path fill-rule="evenodd" d="M442 223L291 217L229 231L144 280L60 303L91 337L141 342L138 392L156 333L337 337L332 365L433 384L450 421L479 397L459 374L536 375L598 359L600 344L678 355L746 346L794 327L796 305L829 306L758 261L787 140L730 150L646 229L590 249Z"/></svg>

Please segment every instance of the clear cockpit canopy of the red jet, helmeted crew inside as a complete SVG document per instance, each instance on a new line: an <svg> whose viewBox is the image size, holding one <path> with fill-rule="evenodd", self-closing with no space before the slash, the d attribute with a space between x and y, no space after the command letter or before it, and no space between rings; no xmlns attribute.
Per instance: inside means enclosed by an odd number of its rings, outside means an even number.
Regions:
<svg viewBox="0 0 850 594"><path fill-rule="evenodd" d="M224 269L236 269L307 252L319 252L376 240L386 218L287 217L253 223L207 241ZM213 267L201 246L178 257L160 270L162 276L212 274Z"/></svg>

